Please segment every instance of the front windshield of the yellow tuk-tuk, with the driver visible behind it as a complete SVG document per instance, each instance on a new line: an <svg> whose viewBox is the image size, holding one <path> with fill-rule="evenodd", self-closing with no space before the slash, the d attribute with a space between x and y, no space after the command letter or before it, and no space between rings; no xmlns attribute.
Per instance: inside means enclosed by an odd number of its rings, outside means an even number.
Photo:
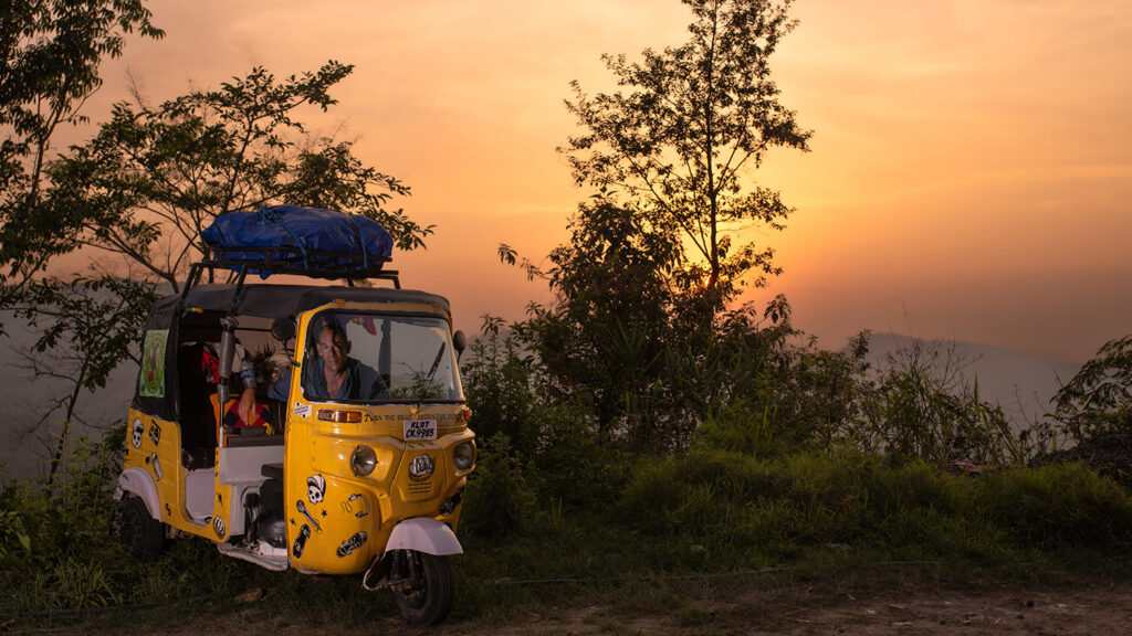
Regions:
<svg viewBox="0 0 1132 636"><path fill-rule="evenodd" d="M302 361L307 399L460 402L448 323L436 316L323 311Z"/></svg>

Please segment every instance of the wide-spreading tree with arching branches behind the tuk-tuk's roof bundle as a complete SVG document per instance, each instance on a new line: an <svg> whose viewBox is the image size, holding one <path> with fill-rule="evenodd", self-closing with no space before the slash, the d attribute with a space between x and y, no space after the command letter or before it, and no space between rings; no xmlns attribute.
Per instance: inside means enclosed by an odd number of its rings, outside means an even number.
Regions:
<svg viewBox="0 0 1132 636"><path fill-rule="evenodd" d="M59 404L66 415L55 457L79 389L101 386L136 355L156 285L180 289L189 263L205 253L200 231L221 213L275 203L331 207L378 220L402 249L423 246L431 227L387 207L409 188L365 165L349 141L308 134L298 118L303 106L333 105L329 88L351 70L332 61L276 80L256 68L157 108L135 96L115 104L91 140L37 172L34 205L11 199L0 226L8 273L0 309L41 329L36 354L66 362L33 364L41 377L65 371L74 388ZM92 255L88 272L45 274L55 257L78 250Z"/></svg>

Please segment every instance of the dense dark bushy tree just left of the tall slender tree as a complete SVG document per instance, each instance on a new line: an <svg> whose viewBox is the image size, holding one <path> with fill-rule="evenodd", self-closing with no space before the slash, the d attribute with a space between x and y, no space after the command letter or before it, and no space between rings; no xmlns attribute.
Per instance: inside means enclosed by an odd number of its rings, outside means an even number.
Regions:
<svg viewBox="0 0 1132 636"><path fill-rule="evenodd" d="M584 401L606 436L616 429L648 437L633 429L663 411L657 402L674 307L669 280L681 248L651 221L594 197L578 206L571 240L550 252L550 268L522 264L550 285L556 302L532 304L517 333L546 370L551 397ZM500 258L516 261L507 246Z"/></svg>

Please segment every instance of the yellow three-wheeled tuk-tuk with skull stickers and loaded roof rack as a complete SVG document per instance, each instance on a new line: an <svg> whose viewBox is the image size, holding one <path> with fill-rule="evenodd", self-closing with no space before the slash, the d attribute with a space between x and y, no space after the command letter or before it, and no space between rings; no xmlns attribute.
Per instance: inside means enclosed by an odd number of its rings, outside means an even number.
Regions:
<svg viewBox="0 0 1132 636"><path fill-rule="evenodd" d="M443 620L475 467L448 302L402 290L363 217L280 206L203 237L209 258L146 325L123 541L146 557L189 534L269 569L361 573L410 624ZM276 274L349 284L246 280Z"/></svg>

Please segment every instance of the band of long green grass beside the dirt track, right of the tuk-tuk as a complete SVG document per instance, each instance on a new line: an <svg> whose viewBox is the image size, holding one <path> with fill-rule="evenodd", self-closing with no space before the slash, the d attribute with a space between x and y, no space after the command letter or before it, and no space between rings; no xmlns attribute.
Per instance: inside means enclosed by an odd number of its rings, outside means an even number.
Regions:
<svg viewBox="0 0 1132 636"><path fill-rule="evenodd" d="M1132 547L1132 497L1073 464L972 479L854 453L706 450L638 466L618 512L641 531L705 541L751 565L829 544L976 561Z"/></svg>

